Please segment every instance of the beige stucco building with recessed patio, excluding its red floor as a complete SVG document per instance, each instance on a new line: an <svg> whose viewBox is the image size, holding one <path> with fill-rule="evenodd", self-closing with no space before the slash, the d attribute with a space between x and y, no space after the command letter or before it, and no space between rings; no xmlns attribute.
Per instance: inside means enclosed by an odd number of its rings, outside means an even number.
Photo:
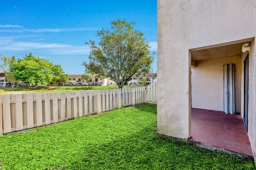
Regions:
<svg viewBox="0 0 256 170"><path fill-rule="evenodd" d="M224 65L233 64L234 113L245 119L255 158L256 1L158 0L157 6L158 133L186 139L191 107L224 111Z"/></svg>

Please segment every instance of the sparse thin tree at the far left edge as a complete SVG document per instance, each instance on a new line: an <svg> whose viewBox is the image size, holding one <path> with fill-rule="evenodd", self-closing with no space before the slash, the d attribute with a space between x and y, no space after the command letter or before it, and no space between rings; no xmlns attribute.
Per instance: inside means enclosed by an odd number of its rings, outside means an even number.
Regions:
<svg viewBox="0 0 256 170"><path fill-rule="evenodd" d="M16 62L15 57L6 57L6 55L1 56L1 60L3 62L2 65L0 65L2 71L4 72L4 78L6 81L10 82L12 88L14 88L15 83L17 82L16 77L14 76L11 66Z"/></svg>

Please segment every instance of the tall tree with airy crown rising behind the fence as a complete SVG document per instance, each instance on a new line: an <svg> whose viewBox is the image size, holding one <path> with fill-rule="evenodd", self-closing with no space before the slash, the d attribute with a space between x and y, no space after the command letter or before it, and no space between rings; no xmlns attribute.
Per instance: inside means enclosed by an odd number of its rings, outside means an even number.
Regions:
<svg viewBox="0 0 256 170"><path fill-rule="evenodd" d="M90 46L89 62L82 65L87 72L112 78L122 88L132 75L150 71L155 52L150 53L143 33L134 30L134 22L118 19L110 24L110 28L97 31L98 45L92 40L86 43Z"/></svg>

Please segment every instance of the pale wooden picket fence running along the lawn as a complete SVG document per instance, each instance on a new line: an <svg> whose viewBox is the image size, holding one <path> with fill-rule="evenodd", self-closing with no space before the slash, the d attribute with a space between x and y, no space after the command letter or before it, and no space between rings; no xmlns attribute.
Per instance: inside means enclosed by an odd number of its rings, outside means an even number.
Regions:
<svg viewBox="0 0 256 170"><path fill-rule="evenodd" d="M156 102L156 84L147 89L123 88L62 93L0 95L0 135L49 125L122 106Z"/></svg>

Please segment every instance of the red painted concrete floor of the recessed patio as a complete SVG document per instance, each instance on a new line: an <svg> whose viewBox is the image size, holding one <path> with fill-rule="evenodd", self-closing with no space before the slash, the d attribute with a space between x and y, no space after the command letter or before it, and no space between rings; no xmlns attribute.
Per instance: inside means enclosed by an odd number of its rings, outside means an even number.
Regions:
<svg viewBox="0 0 256 170"><path fill-rule="evenodd" d="M191 109L190 139L214 147L253 156L244 121L240 114Z"/></svg>

